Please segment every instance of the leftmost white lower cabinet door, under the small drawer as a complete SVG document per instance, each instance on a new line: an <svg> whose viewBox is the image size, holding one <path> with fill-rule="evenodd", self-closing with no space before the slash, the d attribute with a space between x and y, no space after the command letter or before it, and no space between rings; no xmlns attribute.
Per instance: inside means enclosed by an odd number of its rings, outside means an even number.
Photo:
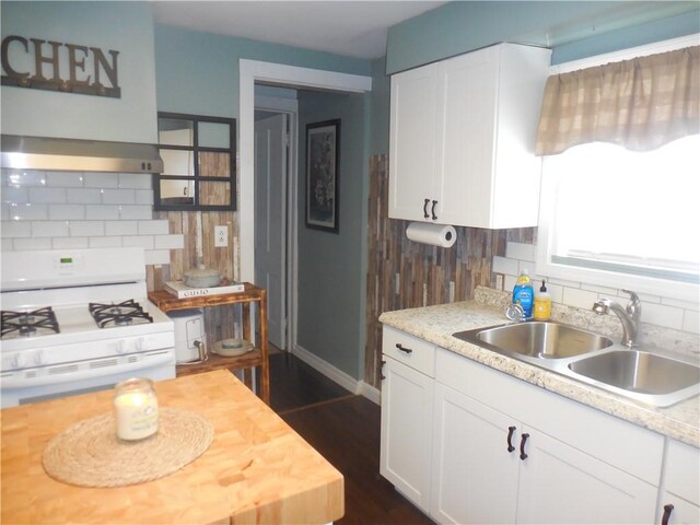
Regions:
<svg viewBox="0 0 700 525"><path fill-rule="evenodd" d="M384 355L380 472L428 512L433 380Z"/></svg>

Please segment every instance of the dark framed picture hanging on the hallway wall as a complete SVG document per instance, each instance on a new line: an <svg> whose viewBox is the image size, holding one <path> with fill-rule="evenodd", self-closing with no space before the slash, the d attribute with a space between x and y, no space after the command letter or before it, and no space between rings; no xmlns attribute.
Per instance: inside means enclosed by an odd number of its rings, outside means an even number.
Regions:
<svg viewBox="0 0 700 525"><path fill-rule="evenodd" d="M306 125L306 226L338 233L340 119Z"/></svg>

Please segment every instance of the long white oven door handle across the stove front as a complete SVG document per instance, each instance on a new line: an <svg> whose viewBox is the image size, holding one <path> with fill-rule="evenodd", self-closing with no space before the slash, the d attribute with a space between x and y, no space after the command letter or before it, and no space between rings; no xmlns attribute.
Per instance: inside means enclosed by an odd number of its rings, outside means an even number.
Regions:
<svg viewBox="0 0 700 525"><path fill-rule="evenodd" d="M63 373L55 373L55 374L42 374L36 377L25 377L26 370L20 372L8 372L0 375L0 388L3 390L11 390L16 388L30 388L33 386L48 386L48 385L59 385L62 383L70 383L73 381L80 380L94 380L97 377L105 377L107 375L120 374L124 372L138 371L142 369L150 369L151 366L156 366L159 364L175 364L175 355L170 350L162 350L160 352L153 352L148 354L141 354L141 359L133 363L124 363L124 364L113 364L106 366L95 366L90 368L89 363L96 363L100 361L109 361L114 358L86 361L82 363L78 363L81 366L79 370L72 372L63 372ZM88 366L85 366L88 365ZM50 369L59 369L70 366L70 364L57 364L52 366L47 366L44 369L48 371Z"/></svg>

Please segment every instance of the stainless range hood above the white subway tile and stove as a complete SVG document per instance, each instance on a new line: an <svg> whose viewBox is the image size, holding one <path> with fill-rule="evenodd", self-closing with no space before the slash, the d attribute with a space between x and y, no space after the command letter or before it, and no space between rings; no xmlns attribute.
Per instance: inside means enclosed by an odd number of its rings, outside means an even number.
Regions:
<svg viewBox="0 0 700 525"><path fill-rule="evenodd" d="M158 147L133 142L0 136L0 166L70 172L161 173Z"/></svg>

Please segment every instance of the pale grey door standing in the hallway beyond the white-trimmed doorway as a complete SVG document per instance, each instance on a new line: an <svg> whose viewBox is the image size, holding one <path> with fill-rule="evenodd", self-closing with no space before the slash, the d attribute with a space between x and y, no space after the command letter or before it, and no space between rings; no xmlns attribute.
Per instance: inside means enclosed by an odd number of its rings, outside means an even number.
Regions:
<svg viewBox="0 0 700 525"><path fill-rule="evenodd" d="M255 122L255 282L267 290L268 339L285 349L287 115Z"/></svg>

